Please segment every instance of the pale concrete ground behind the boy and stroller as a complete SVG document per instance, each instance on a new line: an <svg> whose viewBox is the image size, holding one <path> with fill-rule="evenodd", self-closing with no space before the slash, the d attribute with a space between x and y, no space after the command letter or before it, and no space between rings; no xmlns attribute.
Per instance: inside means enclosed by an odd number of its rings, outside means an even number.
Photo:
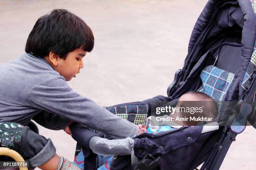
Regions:
<svg viewBox="0 0 256 170"><path fill-rule="evenodd" d="M206 0L0 0L0 64L19 57L36 20L54 8L75 13L92 28L95 48L69 85L102 106L166 95L182 68L192 28ZM57 107L57 106L56 106ZM72 160L75 142L39 126L57 153ZM247 127L221 170L255 169L256 130Z"/></svg>

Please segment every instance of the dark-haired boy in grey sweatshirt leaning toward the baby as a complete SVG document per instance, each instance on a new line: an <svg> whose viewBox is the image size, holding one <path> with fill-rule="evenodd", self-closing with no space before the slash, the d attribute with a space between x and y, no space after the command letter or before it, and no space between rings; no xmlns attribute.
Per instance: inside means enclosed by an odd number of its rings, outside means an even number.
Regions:
<svg viewBox="0 0 256 170"><path fill-rule="evenodd" d="M0 67L0 122L25 126L22 138L29 135L31 143L20 153L31 167L72 168L56 155L50 139L26 128L31 119L54 130L68 129L72 120L114 138L141 133L137 125L82 97L67 84L84 67L83 57L93 46L92 30L81 18L67 10L53 10L36 21L26 53Z"/></svg>

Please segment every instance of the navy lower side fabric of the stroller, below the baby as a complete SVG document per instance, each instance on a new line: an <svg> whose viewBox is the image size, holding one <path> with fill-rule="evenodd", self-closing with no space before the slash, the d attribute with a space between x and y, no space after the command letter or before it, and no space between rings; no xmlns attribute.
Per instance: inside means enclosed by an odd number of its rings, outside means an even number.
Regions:
<svg viewBox="0 0 256 170"><path fill-rule="evenodd" d="M157 134L144 133L135 138L135 155L140 159L147 154L154 155L156 158L161 157L163 161L156 169L189 169L190 164L188 163L193 162L205 141L214 133L210 132L201 135L201 131L202 126L194 126ZM206 153L208 152L209 150ZM202 159L200 160L201 163ZM131 170L131 156L118 156L112 161L110 169Z"/></svg>

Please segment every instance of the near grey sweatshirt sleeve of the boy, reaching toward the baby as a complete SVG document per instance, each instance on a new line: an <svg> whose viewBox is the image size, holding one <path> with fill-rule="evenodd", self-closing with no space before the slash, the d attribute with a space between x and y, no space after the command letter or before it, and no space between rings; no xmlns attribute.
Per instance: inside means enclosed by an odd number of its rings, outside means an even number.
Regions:
<svg viewBox="0 0 256 170"><path fill-rule="evenodd" d="M113 138L132 137L138 133L138 126L74 92L62 76L35 85L28 92L26 102L31 107L74 120Z"/></svg>

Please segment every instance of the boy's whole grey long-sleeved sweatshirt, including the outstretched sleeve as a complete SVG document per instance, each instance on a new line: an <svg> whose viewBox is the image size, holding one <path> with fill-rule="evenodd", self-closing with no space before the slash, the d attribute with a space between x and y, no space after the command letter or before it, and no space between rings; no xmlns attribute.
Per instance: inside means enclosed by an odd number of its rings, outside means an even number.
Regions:
<svg viewBox="0 0 256 170"><path fill-rule="evenodd" d="M23 54L0 66L0 122L27 125L32 117L50 129L64 129L74 120L114 138L138 133L133 123L74 92L44 59Z"/></svg>

